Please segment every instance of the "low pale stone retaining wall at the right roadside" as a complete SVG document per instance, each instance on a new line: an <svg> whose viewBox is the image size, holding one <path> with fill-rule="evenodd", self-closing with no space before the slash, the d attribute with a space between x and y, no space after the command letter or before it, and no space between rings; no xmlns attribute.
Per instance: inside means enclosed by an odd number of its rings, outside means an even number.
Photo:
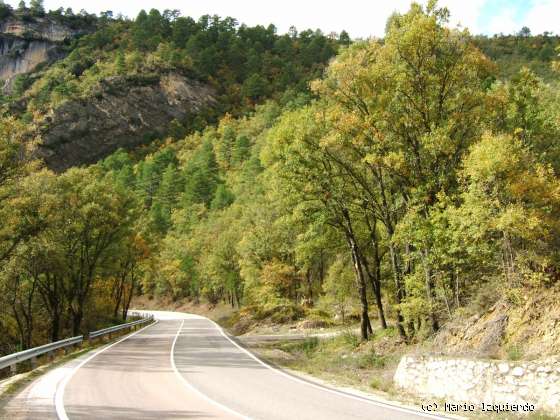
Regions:
<svg viewBox="0 0 560 420"><path fill-rule="evenodd" d="M560 359L527 362L404 356L395 384L452 403L533 404L560 413Z"/></svg>

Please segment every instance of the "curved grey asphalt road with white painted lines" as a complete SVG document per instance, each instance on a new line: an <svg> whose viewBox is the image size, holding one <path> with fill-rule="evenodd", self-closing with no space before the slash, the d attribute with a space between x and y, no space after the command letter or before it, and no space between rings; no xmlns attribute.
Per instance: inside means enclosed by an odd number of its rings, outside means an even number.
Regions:
<svg viewBox="0 0 560 420"><path fill-rule="evenodd" d="M215 323L153 312L137 333L54 369L6 407L13 419L425 419L261 362Z"/></svg>

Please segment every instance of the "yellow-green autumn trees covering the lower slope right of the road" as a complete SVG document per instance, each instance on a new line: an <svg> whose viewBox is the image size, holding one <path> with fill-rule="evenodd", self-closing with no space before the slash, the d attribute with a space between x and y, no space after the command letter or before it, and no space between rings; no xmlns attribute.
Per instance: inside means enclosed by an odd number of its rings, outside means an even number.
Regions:
<svg viewBox="0 0 560 420"><path fill-rule="evenodd" d="M404 343L547 293L556 85L528 69L500 80L447 17L413 6L383 42L344 49L313 96L226 116L139 163L102 163L134 174L162 237L144 293L227 301L237 323L358 315L362 339L373 319Z"/></svg>

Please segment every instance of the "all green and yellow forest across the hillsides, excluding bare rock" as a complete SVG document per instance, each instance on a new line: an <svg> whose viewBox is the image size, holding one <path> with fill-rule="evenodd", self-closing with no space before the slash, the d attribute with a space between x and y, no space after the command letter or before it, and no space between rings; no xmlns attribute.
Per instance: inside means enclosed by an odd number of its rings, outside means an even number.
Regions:
<svg viewBox="0 0 560 420"><path fill-rule="evenodd" d="M4 98L1 350L107 322L133 294L280 323L357 316L364 340L413 343L552 293L558 38L472 37L448 18L412 5L357 42L170 11L96 18ZM35 145L65 103L170 73L214 105L143 149L42 168Z"/></svg>

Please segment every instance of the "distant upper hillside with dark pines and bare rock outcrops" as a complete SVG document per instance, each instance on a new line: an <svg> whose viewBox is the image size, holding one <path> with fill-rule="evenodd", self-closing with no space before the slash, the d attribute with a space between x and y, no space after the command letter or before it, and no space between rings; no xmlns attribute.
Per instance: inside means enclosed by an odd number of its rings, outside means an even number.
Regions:
<svg viewBox="0 0 560 420"><path fill-rule="evenodd" d="M40 135L38 156L55 170L305 91L347 42L155 9L135 21L10 10L0 35L3 101Z"/></svg>

